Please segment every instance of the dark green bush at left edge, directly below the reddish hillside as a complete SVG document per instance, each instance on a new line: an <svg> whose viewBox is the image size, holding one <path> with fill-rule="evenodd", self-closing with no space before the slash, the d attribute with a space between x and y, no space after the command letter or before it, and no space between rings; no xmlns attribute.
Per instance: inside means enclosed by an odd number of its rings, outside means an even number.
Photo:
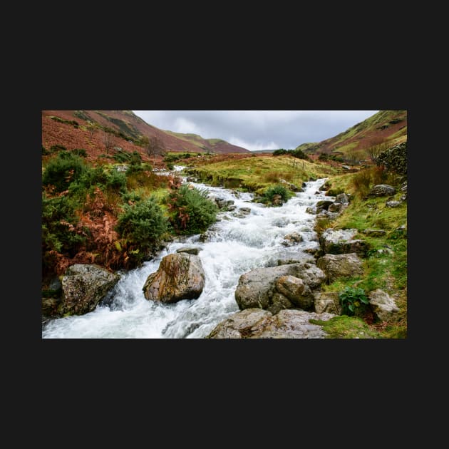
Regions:
<svg viewBox="0 0 449 449"><path fill-rule="evenodd" d="M83 159L73 153L58 153L46 165L42 175L43 185L54 185L56 192L67 190L71 182L78 180L87 166Z"/></svg>

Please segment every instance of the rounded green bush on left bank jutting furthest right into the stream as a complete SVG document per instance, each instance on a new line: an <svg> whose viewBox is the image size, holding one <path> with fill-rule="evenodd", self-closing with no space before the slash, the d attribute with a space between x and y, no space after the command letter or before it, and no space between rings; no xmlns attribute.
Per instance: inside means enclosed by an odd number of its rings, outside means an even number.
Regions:
<svg viewBox="0 0 449 449"><path fill-rule="evenodd" d="M180 234L204 232L217 218L218 207L207 199L207 190L182 185L168 196L170 222Z"/></svg>

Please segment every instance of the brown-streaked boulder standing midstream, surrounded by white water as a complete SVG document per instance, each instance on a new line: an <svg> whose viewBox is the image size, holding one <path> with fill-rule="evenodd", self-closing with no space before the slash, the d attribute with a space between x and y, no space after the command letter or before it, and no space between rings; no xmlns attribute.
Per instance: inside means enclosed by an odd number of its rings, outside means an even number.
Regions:
<svg viewBox="0 0 449 449"><path fill-rule="evenodd" d="M200 257L180 252L162 258L158 271L148 276L143 291L146 299L173 303L197 299L204 286Z"/></svg>

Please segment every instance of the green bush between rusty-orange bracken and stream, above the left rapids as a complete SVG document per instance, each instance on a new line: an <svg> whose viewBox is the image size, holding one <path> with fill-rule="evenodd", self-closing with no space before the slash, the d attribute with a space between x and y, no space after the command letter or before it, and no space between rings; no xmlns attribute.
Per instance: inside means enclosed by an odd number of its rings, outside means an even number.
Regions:
<svg viewBox="0 0 449 449"><path fill-rule="evenodd" d="M124 205L123 209L115 230L131 247L137 248L134 254L138 262L141 262L146 253L153 251L160 244L162 234L167 231L167 218L154 197L132 206Z"/></svg>

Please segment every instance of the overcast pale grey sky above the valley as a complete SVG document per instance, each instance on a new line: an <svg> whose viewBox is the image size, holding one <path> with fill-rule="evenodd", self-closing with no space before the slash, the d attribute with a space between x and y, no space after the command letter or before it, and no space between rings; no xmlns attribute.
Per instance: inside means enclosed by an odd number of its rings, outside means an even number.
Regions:
<svg viewBox="0 0 449 449"><path fill-rule="evenodd" d="M296 148L334 137L377 110L133 110L150 125L247 150Z"/></svg>

